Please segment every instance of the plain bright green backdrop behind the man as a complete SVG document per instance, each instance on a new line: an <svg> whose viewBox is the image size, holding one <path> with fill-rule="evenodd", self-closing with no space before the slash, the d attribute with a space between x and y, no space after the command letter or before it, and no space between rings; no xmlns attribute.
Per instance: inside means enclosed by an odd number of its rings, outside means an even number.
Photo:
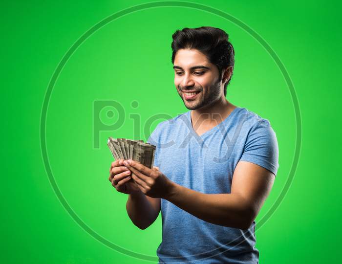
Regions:
<svg viewBox="0 0 342 264"><path fill-rule="evenodd" d="M43 164L40 118L45 92L66 51L107 16L144 1L2 3L1 93L3 263L150 263L95 240L55 195ZM341 153L339 9L334 2L196 1L254 29L278 54L296 88L302 148L294 180L272 216L256 231L260 263L338 262ZM158 7L108 23L70 57L50 98L46 145L55 180L69 206L94 232L129 251L156 257L161 216L140 230L126 213L127 196L108 181L108 136L147 139L161 119L187 111L173 84L171 35L214 26L230 35L235 71L227 99L270 120L279 144L274 187L256 219L279 197L294 158L296 125L289 89L266 50L234 23L197 9ZM93 103L116 100L125 122L93 133ZM138 107L132 107L133 101ZM105 124L115 123L100 113ZM140 125L132 119L139 115ZM139 133L137 133L139 132ZM94 148L93 137L100 137Z"/></svg>

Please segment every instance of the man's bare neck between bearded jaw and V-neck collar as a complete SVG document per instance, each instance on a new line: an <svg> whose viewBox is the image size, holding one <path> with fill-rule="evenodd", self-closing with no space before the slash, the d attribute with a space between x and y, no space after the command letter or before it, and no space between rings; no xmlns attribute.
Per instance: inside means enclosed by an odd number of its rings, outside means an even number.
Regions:
<svg viewBox="0 0 342 264"><path fill-rule="evenodd" d="M230 113L236 108L225 97L221 97L218 101L209 106L202 107L191 111L193 124L219 124L226 119Z"/></svg>

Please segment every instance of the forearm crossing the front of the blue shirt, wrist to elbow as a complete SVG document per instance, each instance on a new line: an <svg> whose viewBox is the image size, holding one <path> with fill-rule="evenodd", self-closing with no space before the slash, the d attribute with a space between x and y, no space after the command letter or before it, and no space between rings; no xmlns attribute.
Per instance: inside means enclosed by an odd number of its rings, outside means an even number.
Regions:
<svg viewBox="0 0 342 264"><path fill-rule="evenodd" d="M172 182L165 199L210 223L247 229L252 221L248 203L238 194L203 194Z"/></svg>

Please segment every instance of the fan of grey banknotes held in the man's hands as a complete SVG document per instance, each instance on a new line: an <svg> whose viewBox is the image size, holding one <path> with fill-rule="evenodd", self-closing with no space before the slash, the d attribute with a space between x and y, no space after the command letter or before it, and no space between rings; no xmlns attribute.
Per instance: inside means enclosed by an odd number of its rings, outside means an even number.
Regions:
<svg viewBox="0 0 342 264"><path fill-rule="evenodd" d="M143 140L109 137L107 145L115 160L131 159L152 169L154 163L155 146L144 143Z"/></svg>

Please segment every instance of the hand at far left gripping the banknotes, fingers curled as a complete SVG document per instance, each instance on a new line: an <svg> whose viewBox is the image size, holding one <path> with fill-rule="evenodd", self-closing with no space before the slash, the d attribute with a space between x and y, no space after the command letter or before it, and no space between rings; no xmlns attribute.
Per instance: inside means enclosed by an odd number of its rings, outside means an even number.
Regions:
<svg viewBox="0 0 342 264"><path fill-rule="evenodd" d="M109 181L120 193L133 194L141 192L139 187L131 179L131 171L123 165L124 159L115 160L109 169Z"/></svg>

